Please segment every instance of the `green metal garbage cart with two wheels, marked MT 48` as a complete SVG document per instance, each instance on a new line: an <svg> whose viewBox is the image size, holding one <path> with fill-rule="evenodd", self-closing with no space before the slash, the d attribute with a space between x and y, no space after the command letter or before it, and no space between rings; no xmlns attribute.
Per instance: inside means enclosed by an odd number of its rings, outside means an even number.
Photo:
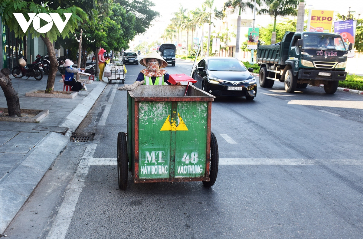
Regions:
<svg viewBox="0 0 363 239"><path fill-rule="evenodd" d="M127 92L127 134L117 138L119 188L126 189L129 171L135 183L212 186L219 157L211 132L214 98L192 85L140 85Z"/></svg>

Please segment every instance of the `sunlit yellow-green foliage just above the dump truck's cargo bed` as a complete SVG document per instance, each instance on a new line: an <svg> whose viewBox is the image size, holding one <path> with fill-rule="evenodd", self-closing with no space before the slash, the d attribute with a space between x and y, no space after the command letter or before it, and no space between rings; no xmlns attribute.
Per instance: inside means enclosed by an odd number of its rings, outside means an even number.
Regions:
<svg viewBox="0 0 363 239"><path fill-rule="evenodd" d="M273 30L273 24L269 24L267 27L260 27L259 40L262 45L270 44L272 30ZM291 32L296 31L296 20L286 19L282 23L276 24L276 42L282 41L286 31L291 31Z"/></svg>

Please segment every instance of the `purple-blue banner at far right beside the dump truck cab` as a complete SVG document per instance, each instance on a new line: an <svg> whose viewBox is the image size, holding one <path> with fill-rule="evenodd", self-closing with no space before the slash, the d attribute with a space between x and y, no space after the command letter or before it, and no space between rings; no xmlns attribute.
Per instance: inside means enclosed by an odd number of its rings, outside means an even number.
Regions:
<svg viewBox="0 0 363 239"><path fill-rule="evenodd" d="M345 47L348 49L350 43L353 44L352 50L348 51L348 57L354 57L354 42L355 42L355 29L356 21L336 21L334 22L334 32L342 36Z"/></svg>

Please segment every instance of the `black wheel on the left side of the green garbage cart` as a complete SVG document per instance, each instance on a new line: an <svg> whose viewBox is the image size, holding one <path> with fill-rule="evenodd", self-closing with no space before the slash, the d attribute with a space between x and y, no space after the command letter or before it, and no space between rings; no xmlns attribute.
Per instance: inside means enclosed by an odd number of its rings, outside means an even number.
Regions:
<svg viewBox="0 0 363 239"><path fill-rule="evenodd" d="M117 135L117 175L118 175L118 187L120 189L126 189L127 186L127 174L129 167L127 157L127 142L126 134L119 132Z"/></svg>

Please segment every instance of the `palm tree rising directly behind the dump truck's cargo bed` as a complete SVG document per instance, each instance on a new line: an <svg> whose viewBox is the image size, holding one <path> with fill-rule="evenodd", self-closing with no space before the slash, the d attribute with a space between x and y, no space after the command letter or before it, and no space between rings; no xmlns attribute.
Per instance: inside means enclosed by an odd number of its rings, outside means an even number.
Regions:
<svg viewBox="0 0 363 239"><path fill-rule="evenodd" d="M277 16L296 16L297 1L296 0L263 0L266 8L260 9L258 14L268 14L274 17L272 29L271 44L276 43L276 18Z"/></svg>

